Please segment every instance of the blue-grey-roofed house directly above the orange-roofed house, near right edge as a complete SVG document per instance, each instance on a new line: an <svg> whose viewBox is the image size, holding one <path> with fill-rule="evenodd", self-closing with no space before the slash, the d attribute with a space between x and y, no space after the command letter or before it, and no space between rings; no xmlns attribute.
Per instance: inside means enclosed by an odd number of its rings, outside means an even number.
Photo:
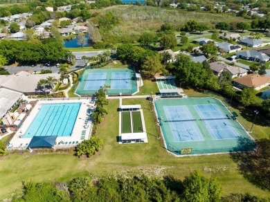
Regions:
<svg viewBox="0 0 270 202"><path fill-rule="evenodd" d="M257 50L245 50L235 54L237 58L251 60L254 62L267 62L270 57L268 57L265 53L261 53Z"/></svg>

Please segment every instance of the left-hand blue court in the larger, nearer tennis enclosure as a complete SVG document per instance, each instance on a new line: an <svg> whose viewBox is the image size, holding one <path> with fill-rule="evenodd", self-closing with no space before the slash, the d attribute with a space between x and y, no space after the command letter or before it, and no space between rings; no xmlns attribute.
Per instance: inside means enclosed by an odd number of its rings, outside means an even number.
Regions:
<svg viewBox="0 0 270 202"><path fill-rule="evenodd" d="M175 142L204 140L186 106L165 106L163 109Z"/></svg>

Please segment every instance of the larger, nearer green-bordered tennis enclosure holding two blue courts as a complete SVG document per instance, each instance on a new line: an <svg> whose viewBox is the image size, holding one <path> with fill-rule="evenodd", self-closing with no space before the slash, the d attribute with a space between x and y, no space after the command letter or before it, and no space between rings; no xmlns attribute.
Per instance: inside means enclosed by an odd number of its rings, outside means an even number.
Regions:
<svg viewBox="0 0 270 202"><path fill-rule="evenodd" d="M251 140L215 98L159 99L154 106L167 149L174 154L242 151L240 140Z"/></svg>

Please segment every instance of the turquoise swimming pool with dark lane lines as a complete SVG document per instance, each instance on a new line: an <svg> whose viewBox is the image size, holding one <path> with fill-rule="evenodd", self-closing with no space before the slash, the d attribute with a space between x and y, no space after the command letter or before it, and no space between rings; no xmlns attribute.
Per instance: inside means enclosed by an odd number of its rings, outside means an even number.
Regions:
<svg viewBox="0 0 270 202"><path fill-rule="evenodd" d="M41 104L24 138L71 136L81 103Z"/></svg>

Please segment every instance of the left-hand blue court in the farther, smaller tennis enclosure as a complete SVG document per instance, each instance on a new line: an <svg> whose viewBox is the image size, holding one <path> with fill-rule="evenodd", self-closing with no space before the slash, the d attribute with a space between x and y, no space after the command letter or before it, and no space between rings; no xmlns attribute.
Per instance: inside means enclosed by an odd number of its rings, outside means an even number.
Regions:
<svg viewBox="0 0 270 202"><path fill-rule="evenodd" d="M106 83L106 73L89 73L84 90L98 90Z"/></svg>

